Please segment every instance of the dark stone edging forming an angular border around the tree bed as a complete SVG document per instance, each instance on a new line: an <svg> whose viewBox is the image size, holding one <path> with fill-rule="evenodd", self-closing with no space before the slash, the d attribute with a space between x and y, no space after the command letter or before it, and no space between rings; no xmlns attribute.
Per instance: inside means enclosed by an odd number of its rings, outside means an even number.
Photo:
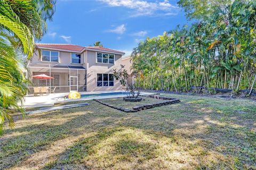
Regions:
<svg viewBox="0 0 256 170"><path fill-rule="evenodd" d="M150 97L150 98L155 98L155 99L163 99L163 100L167 100L167 101L162 101L162 102L158 102L158 103L154 103L154 104L145 104L145 105L141 105L141 106L134 106L132 107L132 109L129 108L123 108L123 107L119 107L119 106L114 106L114 105L110 105L108 103L105 103L103 101L100 101L98 99L93 99L94 101L97 101L98 103L117 109L119 111L122 112L126 112L126 113L134 113L134 112L139 112L145 109L149 109L149 108L154 108L154 107L159 107L159 106L164 106L164 105L170 105L170 104L174 104L174 103L179 103L180 100L179 99L175 99L175 98L170 98L170 97L161 97L161 96L155 96L155 95L145 95L143 97Z"/></svg>

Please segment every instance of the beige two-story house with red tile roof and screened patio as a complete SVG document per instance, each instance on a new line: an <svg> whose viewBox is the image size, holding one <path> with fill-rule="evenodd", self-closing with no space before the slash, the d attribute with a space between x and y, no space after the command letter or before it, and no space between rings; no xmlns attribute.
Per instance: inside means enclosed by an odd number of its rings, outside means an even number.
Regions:
<svg viewBox="0 0 256 170"><path fill-rule="evenodd" d="M102 91L122 89L113 77L113 69L122 69L125 53L104 47L82 47L71 44L36 44L28 61L28 86L55 88L55 92ZM36 79L46 74L53 79Z"/></svg>

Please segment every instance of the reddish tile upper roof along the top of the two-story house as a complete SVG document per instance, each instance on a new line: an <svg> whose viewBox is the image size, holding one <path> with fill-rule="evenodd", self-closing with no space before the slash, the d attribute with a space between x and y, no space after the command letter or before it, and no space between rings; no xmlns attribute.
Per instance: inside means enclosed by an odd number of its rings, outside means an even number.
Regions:
<svg viewBox="0 0 256 170"><path fill-rule="evenodd" d="M113 52L113 53L123 53L118 50L105 48L105 47L91 47L91 46L90 47L82 47L82 46L73 45L73 44L41 44L41 43L37 43L36 47L73 50L73 51L77 51L77 52L82 52L84 49L87 48L87 49L102 50L102 51Z"/></svg>

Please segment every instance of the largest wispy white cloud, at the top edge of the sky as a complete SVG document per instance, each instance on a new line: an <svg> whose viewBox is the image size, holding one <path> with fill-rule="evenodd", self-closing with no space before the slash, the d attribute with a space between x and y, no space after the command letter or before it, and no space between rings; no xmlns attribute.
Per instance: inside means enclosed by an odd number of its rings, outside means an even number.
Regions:
<svg viewBox="0 0 256 170"><path fill-rule="evenodd" d="M121 6L133 10L131 16L145 16L145 15L165 15L166 13L177 15L177 5L172 5L169 0L164 1L143 1L143 0L100 0L109 6Z"/></svg>

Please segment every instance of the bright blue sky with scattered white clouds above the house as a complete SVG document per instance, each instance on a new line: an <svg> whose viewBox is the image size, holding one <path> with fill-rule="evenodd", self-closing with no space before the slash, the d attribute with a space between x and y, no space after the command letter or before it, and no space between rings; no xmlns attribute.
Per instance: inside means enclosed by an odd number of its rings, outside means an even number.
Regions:
<svg viewBox="0 0 256 170"><path fill-rule="evenodd" d="M129 54L139 41L188 24L176 0L59 0L41 43L81 46L101 41Z"/></svg>

